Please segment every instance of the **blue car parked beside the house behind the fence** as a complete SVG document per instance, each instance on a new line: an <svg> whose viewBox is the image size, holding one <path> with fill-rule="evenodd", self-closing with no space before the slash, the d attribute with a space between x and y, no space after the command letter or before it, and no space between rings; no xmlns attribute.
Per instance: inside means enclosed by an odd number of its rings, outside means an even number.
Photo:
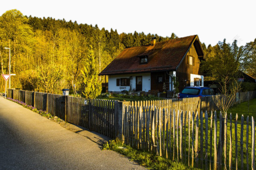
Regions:
<svg viewBox="0 0 256 170"><path fill-rule="evenodd" d="M182 92L178 94L178 98L204 97L211 95L215 95L215 92L210 87L185 87Z"/></svg>

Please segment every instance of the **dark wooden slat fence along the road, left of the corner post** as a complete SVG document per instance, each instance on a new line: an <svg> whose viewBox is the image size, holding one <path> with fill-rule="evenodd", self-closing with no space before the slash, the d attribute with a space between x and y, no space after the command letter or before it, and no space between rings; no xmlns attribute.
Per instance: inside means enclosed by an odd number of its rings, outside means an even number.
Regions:
<svg viewBox="0 0 256 170"><path fill-rule="evenodd" d="M34 91L8 89L7 97L22 101L69 123L115 138L115 101L86 99ZM85 102L86 101L86 102Z"/></svg>

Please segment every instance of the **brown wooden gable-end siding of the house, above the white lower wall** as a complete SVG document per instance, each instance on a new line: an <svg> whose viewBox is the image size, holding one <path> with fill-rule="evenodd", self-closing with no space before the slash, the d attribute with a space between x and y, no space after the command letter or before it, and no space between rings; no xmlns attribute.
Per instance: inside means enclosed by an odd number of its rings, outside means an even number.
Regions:
<svg viewBox="0 0 256 170"><path fill-rule="evenodd" d="M189 65L189 56L192 56L193 65ZM189 49L188 53L186 54L184 60L182 61L181 65L177 69L176 76L180 83L179 90L183 90L184 87L190 85L190 74L197 74L199 75L199 65L200 60L198 58L196 49L194 44L192 44L191 48ZM187 81L185 81L187 80Z"/></svg>

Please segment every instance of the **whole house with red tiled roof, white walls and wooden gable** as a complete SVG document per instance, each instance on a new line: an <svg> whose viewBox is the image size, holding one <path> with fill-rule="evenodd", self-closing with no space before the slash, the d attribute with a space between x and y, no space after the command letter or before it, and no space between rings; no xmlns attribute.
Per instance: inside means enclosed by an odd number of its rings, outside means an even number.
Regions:
<svg viewBox="0 0 256 170"><path fill-rule="evenodd" d="M124 49L99 75L108 75L108 91L173 90L173 77L179 90L203 86L199 72L204 53L197 35Z"/></svg>

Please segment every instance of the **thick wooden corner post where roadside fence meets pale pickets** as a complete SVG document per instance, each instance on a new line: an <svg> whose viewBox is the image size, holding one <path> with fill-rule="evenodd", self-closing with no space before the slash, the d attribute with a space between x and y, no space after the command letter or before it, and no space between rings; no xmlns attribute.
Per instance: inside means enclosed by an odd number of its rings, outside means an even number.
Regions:
<svg viewBox="0 0 256 170"><path fill-rule="evenodd" d="M123 139L124 105L130 105L130 101L115 101L115 137Z"/></svg>

